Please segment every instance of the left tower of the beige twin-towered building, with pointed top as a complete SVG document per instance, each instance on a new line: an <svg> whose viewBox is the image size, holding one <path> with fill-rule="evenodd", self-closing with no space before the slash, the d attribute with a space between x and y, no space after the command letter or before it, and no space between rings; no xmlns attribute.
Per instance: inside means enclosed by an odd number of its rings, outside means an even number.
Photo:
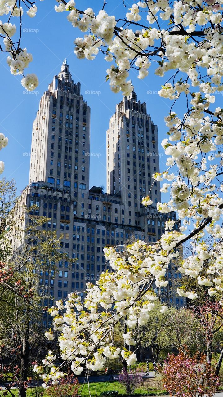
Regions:
<svg viewBox="0 0 223 397"><path fill-rule="evenodd" d="M77 203L86 201L81 191L89 190L89 150L90 108L65 59L33 122L29 182L44 181L66 191Z"/></svg>

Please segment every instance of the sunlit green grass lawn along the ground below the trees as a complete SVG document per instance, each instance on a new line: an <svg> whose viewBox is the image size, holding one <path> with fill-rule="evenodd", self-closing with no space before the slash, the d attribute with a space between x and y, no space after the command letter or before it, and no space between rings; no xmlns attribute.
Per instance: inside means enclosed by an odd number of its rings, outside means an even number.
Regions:
<svg viewBox="0 0 223 397"><path fill-rule="evenodd" d="M119 382L97 382L90 383L90 394L92 397L100 397L103 391L115 390L119 391L119 395L125 395L125 390ZM18 391L16 389L12 390L15 396L17 396ZM27 389L27 397L32 397L32 388ZM89 397L88 384L81 385L79 389L81 397ZM162 380L160 376L150 380L144 380L142 385L135 390L136 395L162 395L166 394L163 391ZM47 397L47 390L44 391L44 397ZM8 397L8 395L7 395Z"/></svg>

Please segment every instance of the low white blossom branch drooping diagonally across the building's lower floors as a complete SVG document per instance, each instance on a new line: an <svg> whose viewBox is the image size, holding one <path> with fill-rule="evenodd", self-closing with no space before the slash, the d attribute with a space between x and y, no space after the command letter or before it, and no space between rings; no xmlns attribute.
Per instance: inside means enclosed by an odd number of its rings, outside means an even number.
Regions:
<svg viewBox="0 0 223 397"><path fill-rule="evenodd" d="M176 232L175 242L180 237ZM106 247L104 254L112 272L103 272L96 285L87 283L83 302L78 293L71 293L65 303L56 301L49 309L53 330L46 331L45 335L53 340L59 332L61 359L71 363L74 374L81 374L85 366L87 370L102 370L107 358L121 356L127 365L136 362L135 328L146 324L150 311L155 308L158 296L153 289L154 283L158 287L167 285L168 252L171 258L179 254L173 252L172 244L173 240L165 241L164 249L160 244L151 246L139 240L123 252ZM166 310L163 304L160 311ZM120 320L127 326L127 332L122 335L123 349L115 347L111 338L111 331ZM131 349L126 349L125 345ZM44 380L44 387L62 374L56 367L56 359L56 355L49 352L43 365L34 368Z"/></svg>

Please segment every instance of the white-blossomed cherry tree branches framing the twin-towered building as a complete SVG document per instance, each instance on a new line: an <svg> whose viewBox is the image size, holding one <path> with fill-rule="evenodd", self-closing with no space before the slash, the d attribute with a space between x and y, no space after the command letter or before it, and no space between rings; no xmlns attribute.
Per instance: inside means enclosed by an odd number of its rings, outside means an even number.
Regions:
<svg viewBox="0 0 223 397"><path fill-rule="evenodd" d="M98 13L92 8L80 10L74 0L58 0L55 6L56 12L63 12L73 27L84 33L75 39L76 56L93 60L99 52L103 54L113 92L127 96L132 92L128 80L131 68L144 79L153 62L155 74L166 76L159 95L172 101L165 117L167 137L161 144L167 170L153 177L163 181L161 192L169 192L170 197L164 204L158 202L157 210L165 214L175 211L182 225L176 230L175 221L167 221L165 233L156 243L136 241L122 252L105 248L112 272L103 273L97 285L87 284L83 302L72 293L65 305L57 301L50 309L54 331L59 333L61 358L71 363L75 374L85 366L87 371L100 370L106 358L120 355L126 365L136 361L137 335L133 337L133 329L149 321L158 299L154 285L167 286L165 274L173 259L178 261L179 272L195 280L195 287L178 288L179 296L196 299L199 285L208 287L208 295L222 304L223 109L214 106L215 94L223 91L221 4L222 0L142 0L128 12L123 8L119 18L108 15L106 1ZM0 15L10 17L0 22L0 49L9 53L11 72L23 75L23 87L33 90L37 77L24 75L31 55L19 45L22 6L28 8L28 15L35 15L34 3L1 0ZM13 15L19 20L17 39L16 26L11 24ZM182 115L175 108L179 99ZM144 197L142 204L150 206L152 200ZM179 259L185 242L191 245L192 254ZM161 305L161 313L166 310L167 306ZM126 324L123 345L129 345L129 350L113 346L113 329L120 320ZM46 337L54 339L54 331L48 331ZM35 366L45 387L63 376L54 364L56 359L50 353L44 360L51 368L48 374L44 366Z"/></svg>

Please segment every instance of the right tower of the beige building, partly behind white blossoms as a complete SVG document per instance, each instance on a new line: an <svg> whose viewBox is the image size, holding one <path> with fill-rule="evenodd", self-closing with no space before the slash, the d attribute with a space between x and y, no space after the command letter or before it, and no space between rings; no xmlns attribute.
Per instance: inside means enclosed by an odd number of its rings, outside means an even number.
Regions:
<svg viewBox="0 0 223 397"><path fill-rule="evenodd" d="M157 126L146 103L138 101L133 91L116 105L107 130L107 191L121 195L123 223L140 227L152 242L163 233L165 222L156 210L161 202L160 182L152 178L160 171L159 156ZM147 195L153 204L145 209L141 201Z"/></svg>

